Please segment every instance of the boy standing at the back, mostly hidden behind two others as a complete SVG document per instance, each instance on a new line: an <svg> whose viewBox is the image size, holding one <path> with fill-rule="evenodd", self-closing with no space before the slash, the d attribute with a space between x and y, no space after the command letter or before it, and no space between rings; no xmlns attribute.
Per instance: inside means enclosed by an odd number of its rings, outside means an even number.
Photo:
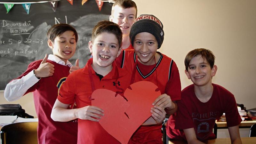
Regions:
<svg viewBox="0 0 256 144"><path fill-rule="evenodd" d="M116 0L112 6L109 21L119 25L123 33L122 49L132 50L130 30L133 21L137 18L137 6L132 0Z"/></svg>

